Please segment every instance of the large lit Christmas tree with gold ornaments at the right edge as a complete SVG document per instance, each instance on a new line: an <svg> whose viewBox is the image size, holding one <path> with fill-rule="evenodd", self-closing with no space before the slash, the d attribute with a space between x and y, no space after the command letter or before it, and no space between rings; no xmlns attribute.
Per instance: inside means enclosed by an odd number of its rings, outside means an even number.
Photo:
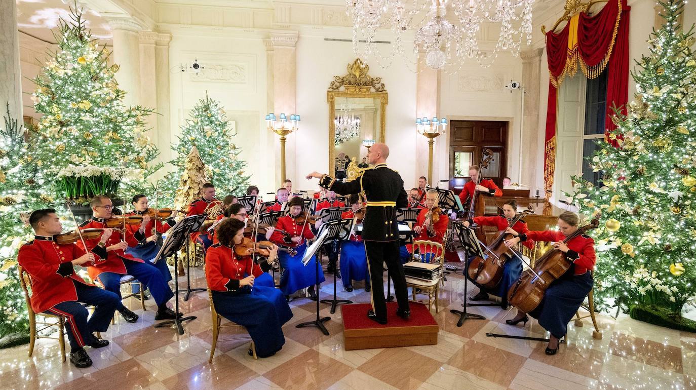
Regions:
<svg viewBox="0 0 696 390"><path fill-rule="evenodd" d="M694 331L681 317L696 295L696 56L680 0L661 1L665 24L632 73L635 100L615 108L617 130L590 159L601 184L580 177L570 201L599 217L595 297L633 318ZM618 310L618 309L617 309Z"/></svg>

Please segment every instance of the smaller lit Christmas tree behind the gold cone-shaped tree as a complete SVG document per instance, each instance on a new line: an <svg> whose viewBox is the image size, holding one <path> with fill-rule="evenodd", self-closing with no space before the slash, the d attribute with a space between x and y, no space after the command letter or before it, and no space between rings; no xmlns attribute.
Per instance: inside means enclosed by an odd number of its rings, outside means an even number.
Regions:
<svg viewBox="0 0 696 390"><path fill-rule="evenodd" d="M242 149L237 148L230 139L236 134L230 129L225 110L216 100L208 97L198 101L191 111L191 119L182 126L179 143L172 146L177 157L171 161L177 171L170 173L161 185L165 195L173 198L177 190L178 178L184 173L184 164L193 147L198 148L207 176L215 185L218 196L227 194L242 195L251 176L245 176L246 162L238 159Z"/></svg>

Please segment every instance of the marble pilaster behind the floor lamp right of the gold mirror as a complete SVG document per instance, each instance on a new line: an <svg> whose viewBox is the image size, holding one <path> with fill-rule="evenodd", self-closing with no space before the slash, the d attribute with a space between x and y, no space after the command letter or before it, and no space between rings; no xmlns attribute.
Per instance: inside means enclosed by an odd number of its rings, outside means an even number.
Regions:
<svg viewBox="0 0 696 390"><path fill-rule="evenodd" d="M420 59L425 58L425 52L419 52ZM438 70L428 68L424 61L418 61L418 79L416 80L416 116L413 117L413 127L409 129L416 140L416 175L413 178L405 178L404 185L406 187L417 187L418 178L420 176L428 177L428 159L429 147L428 139L416 131L416 118L427 116L428 118L437 116L440 117L440 75ZM443 171L441 168L441 160L443 156L448 154L448 132L435 139L433 150L433 176L432 181L428 184L431 187L437 185L440 179L448 178L448 171ZM449 158L446 158L449 162ZM446 165L445 165L446 167ZM445 168L446 169L446 168ZM409 180L410 179L410 180Z"/></svg>

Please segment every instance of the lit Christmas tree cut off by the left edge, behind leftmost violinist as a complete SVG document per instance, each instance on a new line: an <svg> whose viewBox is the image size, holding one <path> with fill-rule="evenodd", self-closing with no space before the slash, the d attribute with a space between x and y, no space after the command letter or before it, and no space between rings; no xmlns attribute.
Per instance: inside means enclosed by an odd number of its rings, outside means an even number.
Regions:
<svg viewBox="0 0 696 390"><path fill-rule="evenodd" d="M24 293L17 274L17 251L31 239L29 214L48 208L52 196L43 190L24 130L11 119L6 106L0 128L0 346L28 340L29 323ZM19 337L13 336L19 335ZM6 338L6 336L8 338Z"/></svg>

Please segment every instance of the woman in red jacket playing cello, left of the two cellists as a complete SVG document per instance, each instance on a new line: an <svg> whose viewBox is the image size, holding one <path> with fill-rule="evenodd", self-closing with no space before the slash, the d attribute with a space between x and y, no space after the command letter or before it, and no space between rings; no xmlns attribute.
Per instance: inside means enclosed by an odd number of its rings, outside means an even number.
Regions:
<svg viewBox="0 0 696 390"><path fill-rule="evenodd" d="M496 217L474 217L468 221L464 221L464 226L470 226L472 224L477 224L479 226L496 226L498 232L507 231L512 235L519 235L520 233L527 233L529 229L527 228L527 223L525 221L517 221L512 228L508 229L508 225L512 223L517 214L517 202L514 199L510 199L503 205L503 215L496 215ZM525 247L532 249L534 247L533 240L526 240L522 242ZM516 252L515 252L516 253ZM513 256L505 260L505 265L503 266L503 278L500 279L500 283L496 288L488 289L484 286L478 286L479 292L473 297L469 297L470 301L482 301L488 299L488 295L493 294L496 297L500 297L500 306L503 310L507 310L509 304L507 303L507 291L510 286L515 283L522 275L522 260ZM469 276L467 279L471 280Z"/></svg>

